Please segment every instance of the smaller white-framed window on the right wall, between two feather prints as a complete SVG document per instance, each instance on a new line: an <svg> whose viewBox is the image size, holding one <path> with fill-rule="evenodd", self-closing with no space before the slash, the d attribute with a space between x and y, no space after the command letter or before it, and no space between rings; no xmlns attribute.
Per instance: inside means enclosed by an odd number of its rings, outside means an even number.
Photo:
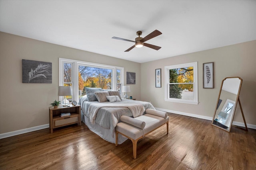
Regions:
<svg viewBox="0 0 256 170"><path fill-rule="evenodd" d="M165 101L198 104L197 62L164 67Z"/></svg>

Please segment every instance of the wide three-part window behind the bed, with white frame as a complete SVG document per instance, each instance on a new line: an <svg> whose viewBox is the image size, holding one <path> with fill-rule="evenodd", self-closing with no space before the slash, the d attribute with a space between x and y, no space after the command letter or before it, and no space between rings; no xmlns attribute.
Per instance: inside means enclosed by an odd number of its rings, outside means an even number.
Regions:
<svg viewBox="0 0 256 170"><path fill-rule="evenodd" d="M60 86L72 86L72 96L67 99L78 101L86 94L86 87L112 89L121 92L124 68L104 64L88 63L70 59L59 59ZM62 96L60 96L62 100Z"/></svg>

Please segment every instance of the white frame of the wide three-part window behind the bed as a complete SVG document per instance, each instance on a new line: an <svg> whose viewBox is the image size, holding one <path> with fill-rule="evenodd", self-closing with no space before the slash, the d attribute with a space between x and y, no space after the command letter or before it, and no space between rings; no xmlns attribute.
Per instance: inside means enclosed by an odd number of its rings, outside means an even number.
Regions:
<svg viewBox="0 0 256 170"><path fill-rule="evenodd" d="M117 81L116 81L116 70L120 70L120 75L121 75L121 87L124 84L124 67L119 67L119 66L110 66L110 65L105 65L105 64L97 64L97 63L89 63L89 62L85 62L85 61L78 61L78 60L72 60L72 59L63 59L63 58L59 58L59 86L63 86L64 84L66 84L66 82L64 82L64 68L63 68L63 64L64 63L70 63L71 67L72 67L72 72L71 72L71 76L72 76L72 101L79 100L79 93L78 93L78 67L79 66L90 66L90 67L97 67L97 68L107 68L107 69L111 69L112 70L112 88L113 90L118 90L117 89ZM122 92L122 91L121 91ZM122 95L121 95L122 96ZM63 97L60 96L60 101L62 101Z"/></svg>

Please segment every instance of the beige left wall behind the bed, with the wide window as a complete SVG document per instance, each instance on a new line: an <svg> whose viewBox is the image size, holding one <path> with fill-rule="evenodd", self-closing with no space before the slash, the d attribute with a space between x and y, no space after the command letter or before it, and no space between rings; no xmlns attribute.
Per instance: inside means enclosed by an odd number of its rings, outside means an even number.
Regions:
<svg viewBox="0 0 256 170"><path fill-rule="evenodd" d="M0 32L0 134L49 123L58 100L59 58L124 67L136 73L130 96L140 99L140 63ZM52 63L52 84L22 83L22 59Z"/></svg>

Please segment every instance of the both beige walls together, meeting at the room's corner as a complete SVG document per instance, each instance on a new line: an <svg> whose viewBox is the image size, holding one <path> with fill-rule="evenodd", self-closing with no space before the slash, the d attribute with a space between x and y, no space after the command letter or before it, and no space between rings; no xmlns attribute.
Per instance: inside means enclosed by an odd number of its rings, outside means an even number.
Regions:
<svg viewBox="0 0 256 170"><path fill-rule="evenodd" d="M161 109L212 117L222 79L243 79L240 100L247 123L256 125L256 41L170 57L148 63L122 59L54 45L0 32L0 134L46 125L49 104L58 99L59 58L124 67L136 72L129 96L152 102ZM52 63L52 84L22 83L22 59ZM164 66L198 61L198 105L164 101ZM202 64L214 62L214 89L202 87ZM162 68L162 88L155 88L155 69ZM234 121L242 122L238 106Z"/></svg>

